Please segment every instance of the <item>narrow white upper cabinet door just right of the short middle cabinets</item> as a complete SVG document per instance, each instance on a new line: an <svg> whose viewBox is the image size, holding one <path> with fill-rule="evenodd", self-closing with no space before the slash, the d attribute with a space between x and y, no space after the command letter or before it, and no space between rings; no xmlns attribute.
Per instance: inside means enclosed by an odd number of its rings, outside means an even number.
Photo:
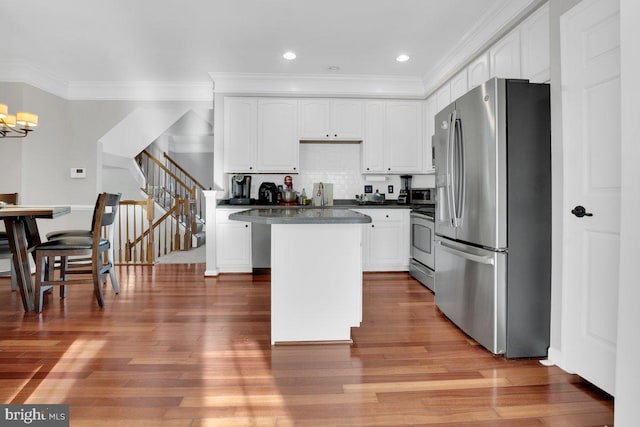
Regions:
<svg viewBox="0 0 640 427"><path fill-rule="evenodd" d="M384 101L366 101L362 173L384 173Z"/></svg>

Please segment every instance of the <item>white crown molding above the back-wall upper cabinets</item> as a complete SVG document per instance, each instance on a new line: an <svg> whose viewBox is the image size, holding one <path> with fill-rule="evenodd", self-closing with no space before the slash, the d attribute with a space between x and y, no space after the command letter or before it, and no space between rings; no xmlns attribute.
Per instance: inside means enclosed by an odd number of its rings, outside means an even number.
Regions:
<svg viewBox="0 0 640 427"><path fill-rule="evenodd" d="M214 93L256 96L424 98L420 77L326 74L209 73Z"/></svg>

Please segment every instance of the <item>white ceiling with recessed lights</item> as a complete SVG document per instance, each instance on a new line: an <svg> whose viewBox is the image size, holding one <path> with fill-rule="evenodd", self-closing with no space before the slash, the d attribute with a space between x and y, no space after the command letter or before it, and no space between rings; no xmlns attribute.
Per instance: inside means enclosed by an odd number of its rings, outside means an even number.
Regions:
<svg viewBox="0 0 640 427"><path fill-rule="evenodd" d="M509 3L514 0L0 0L0 58L61 85L207 82L210 73L424 79L461 43L478 33L490 37L504 26L500 19L513 20L512 12L500 16ZM522 11L534 1L515 3ZM496 28L487 30L490 25ZM287 50L297 58L283 59ZM411 59L397 62L401 53Z"/></svg>

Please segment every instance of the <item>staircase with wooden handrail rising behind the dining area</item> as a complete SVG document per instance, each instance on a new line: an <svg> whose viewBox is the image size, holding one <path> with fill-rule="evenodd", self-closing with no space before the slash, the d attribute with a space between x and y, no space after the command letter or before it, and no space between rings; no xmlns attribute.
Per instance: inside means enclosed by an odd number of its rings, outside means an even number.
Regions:
<svg viewBox="0 0 640 427"><path fill-rule="evenodd" d="M205 243L205 188L167 153L163 158L164 163L147 150L135 157L145 177L142 190L180 227L184 242L177 250L200 247ZM175 209L177 204L183 208Z"/></svg>

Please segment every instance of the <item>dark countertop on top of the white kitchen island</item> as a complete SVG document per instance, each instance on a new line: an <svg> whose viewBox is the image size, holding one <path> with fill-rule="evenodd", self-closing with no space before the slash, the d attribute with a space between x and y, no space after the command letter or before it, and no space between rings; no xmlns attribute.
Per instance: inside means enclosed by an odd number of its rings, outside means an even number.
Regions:
<svg viewBox="0 0 640 427"><path fill-rule="evenodd" d="M303 206L248 209L229 215L229 219L258 224L366 224L371 222L370 216L349 209L320 207L308 209Z"/></svg>

